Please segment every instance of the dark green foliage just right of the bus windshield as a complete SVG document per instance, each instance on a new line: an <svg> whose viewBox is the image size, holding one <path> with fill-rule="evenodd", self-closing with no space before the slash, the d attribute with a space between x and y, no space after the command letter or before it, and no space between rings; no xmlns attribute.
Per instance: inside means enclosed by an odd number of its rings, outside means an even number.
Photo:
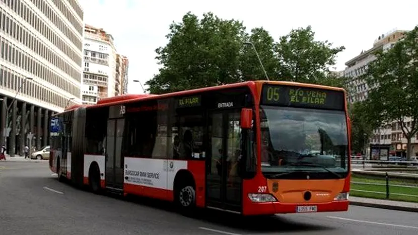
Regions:
<svg viewBox="0 0 418 235"><path fill-rule="evenodd" d="M354 153L364 152L365 144L371 137L374 128L369 124L367 106L363 102L355 102L349 106L351 119L351 144Z"/></svg>

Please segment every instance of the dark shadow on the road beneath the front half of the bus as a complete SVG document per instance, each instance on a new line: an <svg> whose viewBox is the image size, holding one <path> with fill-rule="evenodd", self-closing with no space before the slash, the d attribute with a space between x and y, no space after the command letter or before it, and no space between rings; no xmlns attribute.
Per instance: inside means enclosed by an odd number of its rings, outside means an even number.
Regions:
<svg viewBox="0 0 418 235"><path fill-rule="evenodd" d="M332 230L333 227L302 223L296 221L298 217L286 218L286 215L271 216L242 216L229 212L223 212L213 209L197 209L191 215L181 214L174 203L160 201L156 199L144 198L139 196L127 196L123 200L140 204L149 208L159 209L171 213L177 213L179 216L197 220L213 225L220 225L234 229L240 229L251 232L279 232L279 231L325 231Z"/></svg>

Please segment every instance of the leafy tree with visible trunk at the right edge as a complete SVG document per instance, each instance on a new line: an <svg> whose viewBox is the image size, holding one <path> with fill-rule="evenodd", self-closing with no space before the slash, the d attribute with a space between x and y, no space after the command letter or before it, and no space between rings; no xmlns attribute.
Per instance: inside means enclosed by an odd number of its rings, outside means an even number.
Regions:
<svg viewBox="0 0 418 235"><path fill-rule="evenodd" d="M412 153L411 138L418 131L418 27L387 51L376 53L365 74L370 88L368 108L384 122L396 121L407 140L407 160Z"/></svg>

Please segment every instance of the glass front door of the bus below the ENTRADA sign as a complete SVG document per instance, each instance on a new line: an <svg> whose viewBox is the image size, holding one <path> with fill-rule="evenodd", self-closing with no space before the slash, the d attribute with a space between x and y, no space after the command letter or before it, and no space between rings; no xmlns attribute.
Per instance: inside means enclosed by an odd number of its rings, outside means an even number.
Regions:
<svg viewBox="0 0 418 235"><path fill-rule="evenodd" d="M237 110L210 113L208 124L211 154L206 163L207 207L241 212L242 178L239 176L241 158L239 125L240 112Z"/></svg>

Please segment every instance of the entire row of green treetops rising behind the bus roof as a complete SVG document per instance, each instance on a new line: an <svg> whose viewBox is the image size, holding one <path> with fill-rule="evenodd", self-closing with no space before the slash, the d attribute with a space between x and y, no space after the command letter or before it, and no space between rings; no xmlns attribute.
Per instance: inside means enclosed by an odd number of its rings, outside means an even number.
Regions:
<svg viewBox="0 0 418 235"><path fill-rule="evenodd" d="M182 22L173 22L169 42L156 49L158 74L146 85L154 94L217 86L249 80L265 80L251 42L270 80L343 86L329 72L335 56L344 47L332 48L315 41L310 26L292 30L279 42L263 28L250 33L242 22L223 20L212 13L202 19L187 13Z"/></svg>

